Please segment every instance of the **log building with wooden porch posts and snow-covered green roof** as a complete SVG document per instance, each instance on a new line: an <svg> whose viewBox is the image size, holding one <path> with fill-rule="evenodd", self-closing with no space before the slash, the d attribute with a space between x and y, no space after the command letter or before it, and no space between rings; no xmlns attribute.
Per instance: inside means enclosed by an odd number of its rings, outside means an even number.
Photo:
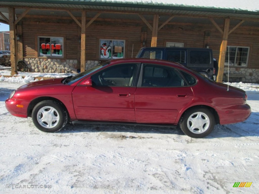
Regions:
<svg viewBox="0 0 259 194"><path fill-rule="evenodd" d="M0 0L0 21L10 25L11 74L19 60L33 72L77 73L141 47L199 47L213 50L217 81L229 72L259 83L257 0Z"/></svg>

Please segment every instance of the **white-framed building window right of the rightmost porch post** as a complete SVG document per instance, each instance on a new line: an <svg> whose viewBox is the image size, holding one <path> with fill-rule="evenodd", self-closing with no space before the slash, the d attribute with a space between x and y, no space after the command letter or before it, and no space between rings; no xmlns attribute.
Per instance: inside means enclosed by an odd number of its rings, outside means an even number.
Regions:
<svg viewBox="0 0 259 194"><path fill-rule="evenodd" d="M225 65L246 67L248 55L249 47L227 46Z"/></svg>

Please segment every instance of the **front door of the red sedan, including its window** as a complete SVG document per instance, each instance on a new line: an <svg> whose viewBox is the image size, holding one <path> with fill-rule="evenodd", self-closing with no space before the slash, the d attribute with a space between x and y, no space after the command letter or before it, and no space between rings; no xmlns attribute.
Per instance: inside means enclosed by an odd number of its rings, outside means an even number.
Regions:
<svg viewBox="0 0 259 194"><path fill-rule="evenodd" d="M135 121L138 66L136 63L109 66L87 78L91 78L92 86L76 86L72 97L77 119Z"/></svg>

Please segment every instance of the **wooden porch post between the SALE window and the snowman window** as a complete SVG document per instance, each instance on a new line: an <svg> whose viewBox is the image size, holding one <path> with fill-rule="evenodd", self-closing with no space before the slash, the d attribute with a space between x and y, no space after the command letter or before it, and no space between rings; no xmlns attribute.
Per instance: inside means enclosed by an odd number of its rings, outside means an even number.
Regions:
<svg viewBox="0 0 259 194"><path fill-rule="evenodd" d="M81 27L81 72L85 71L85 26L86 11L82 11L82 27Z"/></svg>

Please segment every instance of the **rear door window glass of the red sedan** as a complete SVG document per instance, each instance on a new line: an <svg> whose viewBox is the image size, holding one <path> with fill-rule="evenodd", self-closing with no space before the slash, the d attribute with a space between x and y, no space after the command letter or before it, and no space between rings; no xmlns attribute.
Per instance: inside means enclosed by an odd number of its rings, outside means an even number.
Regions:
<svg viewBox="0 0 259 194"><path fill-rule="evenodd" d="M144 64L142 87L182 87L186 85L184 79L175 68Z"/></svg>

